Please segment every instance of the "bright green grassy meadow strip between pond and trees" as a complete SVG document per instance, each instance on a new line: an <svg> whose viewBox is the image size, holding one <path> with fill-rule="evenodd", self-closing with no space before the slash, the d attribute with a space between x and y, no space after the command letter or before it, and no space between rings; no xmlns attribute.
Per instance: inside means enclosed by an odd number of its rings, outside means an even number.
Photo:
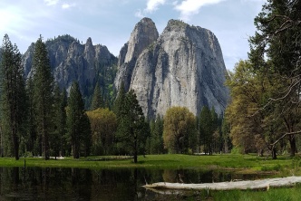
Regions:
<svg viewBox="0 0 301 201"><path fill-rule="evenodd" d="M278 159L259 158L254 155L147 155L140 156L134 164L131 158L90 157L90 158L0 158L0 167L49 167L49 168L198 168L198 169L233 169L244 173L277 172L284 175L301 175L301 158L280 156ZM283 176L284 176L283 175Z"/></svg>

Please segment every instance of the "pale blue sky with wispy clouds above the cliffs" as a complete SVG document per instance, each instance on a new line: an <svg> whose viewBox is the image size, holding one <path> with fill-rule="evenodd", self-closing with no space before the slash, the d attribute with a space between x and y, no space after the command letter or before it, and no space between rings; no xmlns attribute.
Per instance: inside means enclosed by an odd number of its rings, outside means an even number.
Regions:
<svg viewBox="0 0 301 201"><path fill-rule="evenodd" d="M162 33L170 19L213 32L226 68L248 59L254 18L267 0L0 0L0 37L8 34L21 53L40 34L44 41L70 34L86 43L106 45L119 55L141 18L150 17Z"/></svg>

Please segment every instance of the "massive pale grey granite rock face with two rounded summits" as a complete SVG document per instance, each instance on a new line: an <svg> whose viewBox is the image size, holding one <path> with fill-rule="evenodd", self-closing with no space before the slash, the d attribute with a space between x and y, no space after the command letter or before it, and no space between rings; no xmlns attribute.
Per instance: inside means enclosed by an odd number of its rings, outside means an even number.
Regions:
<svg viewBox="0 0 301 201"><path fill-rule="evenodd" d="M136 30L146 21L151 24L150 36L146 40L143 35L140 40ZM142 19L135 26L129 43L121 49L120 60L127 62L120 61L116 87L123 81L125 89L134 90L150 118L164 115L172 106L187 107L196 115L204 105L214 107L219 114L224 111L228 101L228 88L224 86L227 70L216 36L177 20L170 20L160 37L153 30L150 19ZM138 43L141 41L145 43ZM132 43L141 48L132 48Z"/></svg>

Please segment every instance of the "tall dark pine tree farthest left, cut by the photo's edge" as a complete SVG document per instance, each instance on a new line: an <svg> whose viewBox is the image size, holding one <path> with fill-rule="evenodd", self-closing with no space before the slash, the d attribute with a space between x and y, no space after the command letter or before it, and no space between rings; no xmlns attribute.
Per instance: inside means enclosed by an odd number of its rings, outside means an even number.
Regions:
<svg viewBox="0 0 301 201"><path fill-rule="evenodd" d="M21 53L5 34L2 45L1 68L1 109L2 122L8 138L12 139L15 159L19 159L19 142L24 135L26 118L26 94L24 69ZM8 141L6 145L10 144Z"/></svg>

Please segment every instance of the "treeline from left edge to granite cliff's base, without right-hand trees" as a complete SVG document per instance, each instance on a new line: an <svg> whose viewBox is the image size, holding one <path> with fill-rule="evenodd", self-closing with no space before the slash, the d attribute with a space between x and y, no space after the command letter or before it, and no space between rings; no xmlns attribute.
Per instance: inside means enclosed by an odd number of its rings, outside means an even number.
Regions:
<svg viewBox="0 0 301 201"><path fill-rule="evenodd" d="M137 162L139 154L228 151L228 137L213 108L204 107L195 117L187 108L173 107L164 118L147 120L134 91L125 91L121 84L111 106L98 83L86 111L76 81L69 98L53 81L42 37L34 48L34 73L26 80L21 53L5 34L0 64L2 157L131 155Z"/></svg>

